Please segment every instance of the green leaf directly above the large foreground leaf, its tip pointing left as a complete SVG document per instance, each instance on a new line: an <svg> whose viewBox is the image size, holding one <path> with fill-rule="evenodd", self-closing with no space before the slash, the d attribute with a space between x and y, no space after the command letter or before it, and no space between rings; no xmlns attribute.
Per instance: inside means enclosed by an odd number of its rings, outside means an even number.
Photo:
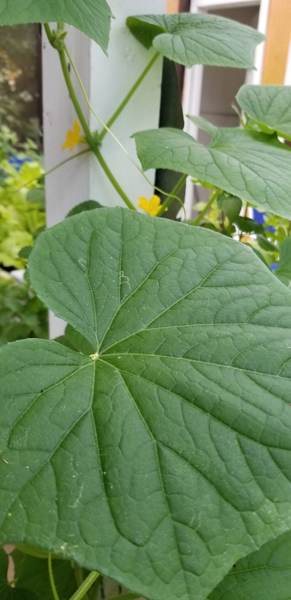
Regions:
<svg viewBox="0 0 291 600"><path fill-rule="evenodd" d="M172 169L228 191L281 217L291 218L291 149L277 137L219 128L205 147L184 131L135 134L143 169Z"/></svg>

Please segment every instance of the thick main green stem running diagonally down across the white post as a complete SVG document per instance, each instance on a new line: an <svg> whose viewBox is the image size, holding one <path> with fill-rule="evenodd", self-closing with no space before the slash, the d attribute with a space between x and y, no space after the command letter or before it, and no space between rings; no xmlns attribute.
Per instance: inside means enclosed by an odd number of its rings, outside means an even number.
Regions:
<svg viewBox="0 0 291 600"><path fill-rule="evenodd" d="M44 28L46 30L48 41L53 46L53 36L51 35L51 31L50 31L50 27L49 27L48 23L46 23L44 25ZM93 139L92 133L90 132L90 129L87 125L86 118L84 117L83 111L80 107L80 104L78 103L78 98L75 94L74 87L72 86L71 77L69 75L69 70L68 70L68 65L66 64L65 50L57 50L57 52L59 53L60 65L62 67L63 77L65 78L65 82L66 82L66 86L69 91L69 95L71 96L71 100L72 100L72 103L74 104L75 111L76 111L78 118L80 120L80 123L83 127L84 134L86 136L86 140L87 140L92 152L95 154L97 160L101 164L101 167L104 170L104 172L106 173L108 179L110 179L111 184L116 189L119 196L123 199L123 202L125 202L125 204L126 204L126 206L128 206L128 208L131 208L133 211L135 211L135 206L132 204L131 200L129 200L128 196L126 196L125 192L122 190L120 185L117 183L113 173L111 173L110 168L108 167L107 163L105 163L105 160L102 157L102 154L99 151L98 146Z"/></svg>

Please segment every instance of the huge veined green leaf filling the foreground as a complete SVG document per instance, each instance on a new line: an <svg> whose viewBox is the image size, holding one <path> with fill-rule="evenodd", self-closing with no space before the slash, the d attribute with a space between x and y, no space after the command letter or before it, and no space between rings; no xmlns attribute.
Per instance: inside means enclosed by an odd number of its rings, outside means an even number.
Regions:
<svg viewBox="0 0 291 600"><path fill-rule="evenodd" d="M0 544L207 598L291 527L291 293L239 242L120 208L42 233L29 270L99 358L0 350Z"/></svg>

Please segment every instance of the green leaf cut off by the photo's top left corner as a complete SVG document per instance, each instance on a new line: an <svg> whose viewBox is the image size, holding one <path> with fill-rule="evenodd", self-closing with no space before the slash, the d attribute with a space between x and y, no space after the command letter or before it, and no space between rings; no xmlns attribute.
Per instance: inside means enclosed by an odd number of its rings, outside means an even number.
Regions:
<svg viewBox="0 0 291 600"><path fill-rule="evenodd" d="M0 0L0 25L63 21L106 51L111 10L106 0Z"/></svg>

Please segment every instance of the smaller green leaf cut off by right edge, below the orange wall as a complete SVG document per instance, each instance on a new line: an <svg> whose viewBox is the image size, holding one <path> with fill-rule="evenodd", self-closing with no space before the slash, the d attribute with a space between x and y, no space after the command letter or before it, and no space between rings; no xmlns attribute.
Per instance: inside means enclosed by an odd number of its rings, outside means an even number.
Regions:
<svg viewBox="0 0 291 600"><path fill-rule="evenodd" d="M237 101L266 133L291 139L291 86L243 85Z"/></svg>

